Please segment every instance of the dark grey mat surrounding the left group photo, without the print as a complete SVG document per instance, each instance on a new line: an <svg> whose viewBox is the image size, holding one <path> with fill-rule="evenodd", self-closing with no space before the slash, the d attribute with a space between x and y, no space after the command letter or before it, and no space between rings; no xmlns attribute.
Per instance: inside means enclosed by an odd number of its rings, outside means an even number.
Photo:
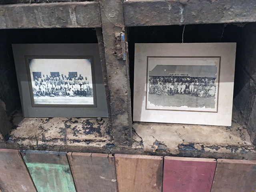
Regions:
<svg viewBox="0 0 256 192"><path fill-rule="evenodd" d="M102 76L98 44L12 44L16 74L24 117L108 117L105 87ZM29 89L28 72L25 57L29 56L93 56L94 87L97 107L33 107Z"/></svg>

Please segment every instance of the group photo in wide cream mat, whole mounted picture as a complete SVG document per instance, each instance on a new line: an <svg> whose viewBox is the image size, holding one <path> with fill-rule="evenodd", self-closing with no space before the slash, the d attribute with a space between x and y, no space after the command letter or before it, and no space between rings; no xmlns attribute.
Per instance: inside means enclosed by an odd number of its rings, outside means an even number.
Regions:
<svg viewBox="0 0 256 192"><path fill-rule="evenodd" d="M136 44L134 121L230 126L235 43Z"/></svg>

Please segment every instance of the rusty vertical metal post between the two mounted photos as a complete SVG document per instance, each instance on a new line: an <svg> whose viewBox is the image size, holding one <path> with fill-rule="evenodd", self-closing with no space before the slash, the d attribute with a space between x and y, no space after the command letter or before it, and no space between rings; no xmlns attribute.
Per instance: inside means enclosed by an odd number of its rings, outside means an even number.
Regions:
<svg viewBox="0 0 256 192"><path fill-rule="evenodd" d="M116 146L131 144L132 118L128 62L118 60L116 33L125 33L122 0L100 0L112 130Z"/></svg>

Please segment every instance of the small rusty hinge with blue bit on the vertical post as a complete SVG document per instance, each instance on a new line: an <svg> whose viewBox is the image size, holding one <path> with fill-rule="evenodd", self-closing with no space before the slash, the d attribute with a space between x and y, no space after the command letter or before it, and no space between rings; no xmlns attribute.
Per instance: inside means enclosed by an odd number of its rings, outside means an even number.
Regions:
<svg viewBox="0 0 256 192"><path fill-rule="evenodd" d="M128 42L125 41L125 34L123 32L116 33L116 55L118 59L126 60L128 53Z"/></svg>

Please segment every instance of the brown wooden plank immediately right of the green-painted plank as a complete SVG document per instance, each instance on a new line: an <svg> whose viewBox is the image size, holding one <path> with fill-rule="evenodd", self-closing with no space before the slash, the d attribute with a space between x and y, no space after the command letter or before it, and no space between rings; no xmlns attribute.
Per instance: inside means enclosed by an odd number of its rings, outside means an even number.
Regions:
<svg viewBox="0 0 256 192"><path fill-rule="evenodd" d="M114 157L110 154L68 153L77 192L118 192Z"/></svg>

